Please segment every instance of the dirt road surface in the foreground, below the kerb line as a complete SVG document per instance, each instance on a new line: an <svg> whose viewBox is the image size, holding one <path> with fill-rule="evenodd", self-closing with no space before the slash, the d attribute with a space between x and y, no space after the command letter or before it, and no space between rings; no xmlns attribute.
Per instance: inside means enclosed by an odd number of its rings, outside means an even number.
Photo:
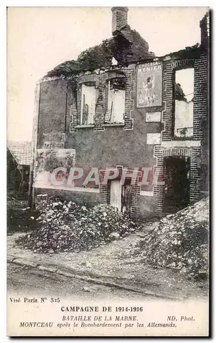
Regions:
<svg viewBox="0 0 216 343"><path fill-rule="evenodd" d="M68 278L44 270L23 268L14 263L8 263L8 293L22 296L61 296L73 300L149 300L152 297L137 294L117 287L97 285L77 278Z"/></svg>

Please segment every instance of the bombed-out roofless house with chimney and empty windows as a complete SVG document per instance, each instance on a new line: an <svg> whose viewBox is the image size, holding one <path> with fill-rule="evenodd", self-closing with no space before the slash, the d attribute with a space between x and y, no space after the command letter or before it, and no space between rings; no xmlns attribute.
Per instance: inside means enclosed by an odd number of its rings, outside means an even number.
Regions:
<svg viewBox="0 0 216 343"><path fill-rule="evenodd" d="M112 38L49 71L36 86L30 194L108 203L132 217L168 213L208 192L209 14L201 44L156 57L112 8ZM107 185L53 185L53 169L149 167L146 185L120 177ZM152 168L153 167L153 168ZM152 185L155 168L160 181ZM152 171L150 170L152 168ZM65 175L64 175L65 176ZM148 184L147 184L148 183Z"/></svg>

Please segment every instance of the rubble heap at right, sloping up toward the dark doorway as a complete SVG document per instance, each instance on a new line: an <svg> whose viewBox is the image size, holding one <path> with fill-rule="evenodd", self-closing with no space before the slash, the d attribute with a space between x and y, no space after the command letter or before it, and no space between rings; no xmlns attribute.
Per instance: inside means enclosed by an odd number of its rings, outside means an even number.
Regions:
<svg viewBox="0 0 216 343"><path fill-rule="evenodd" d="M200 200L164 217L145 233L141 256L146 263L180 270L191 277L208 272L209 200Z"/></svg>

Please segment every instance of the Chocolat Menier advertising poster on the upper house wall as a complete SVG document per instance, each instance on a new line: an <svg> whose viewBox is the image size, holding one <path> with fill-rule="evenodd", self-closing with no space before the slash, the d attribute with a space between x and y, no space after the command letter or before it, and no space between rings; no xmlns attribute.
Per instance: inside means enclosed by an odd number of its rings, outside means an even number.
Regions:
<svg viewBox="0 0 216 343"><path fill-rule="evenodd" d="M137 69L136 107L161 106L162 62L139 64Z"/></svg>

